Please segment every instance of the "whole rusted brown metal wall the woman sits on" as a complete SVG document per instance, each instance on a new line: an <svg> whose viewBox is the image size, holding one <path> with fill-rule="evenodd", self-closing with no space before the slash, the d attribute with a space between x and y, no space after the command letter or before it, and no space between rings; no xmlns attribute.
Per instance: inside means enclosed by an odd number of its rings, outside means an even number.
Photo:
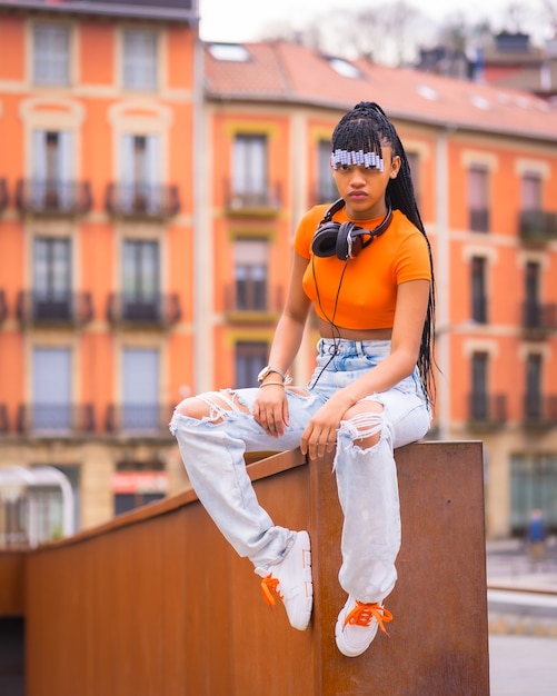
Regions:
<svg viewBox="0 0 557 696"><path fill-rule="evenodd" d="M332 696L489 693L481 447L397 451L404 544L391 638L335 646L340 510L330 458L252 464L277 524L312 537L307 632L262 601L193 494L27 557L27 696Z"/></svg>

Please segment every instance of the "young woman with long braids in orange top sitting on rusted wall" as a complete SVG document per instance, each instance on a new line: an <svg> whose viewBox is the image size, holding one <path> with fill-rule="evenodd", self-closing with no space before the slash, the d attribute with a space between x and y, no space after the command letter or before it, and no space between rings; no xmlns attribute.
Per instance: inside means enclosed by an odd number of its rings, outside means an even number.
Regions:
<svg viewBox="0 0 557 696"><path fill-rule="evenodd" d="M259 388L182 401L171 422L201 504L300 630L312 606L310 540L272 523L246 471L246 451L336 449L344 513L339 583L348 595L335 629L347 656L364 653L391 614L400 547L394 449L430 424L432 264L398 135L360 102L332 135L340 195L316 206L295 239L289 291ZM311 305L320 340L307 387L290 386Z"/></svg>

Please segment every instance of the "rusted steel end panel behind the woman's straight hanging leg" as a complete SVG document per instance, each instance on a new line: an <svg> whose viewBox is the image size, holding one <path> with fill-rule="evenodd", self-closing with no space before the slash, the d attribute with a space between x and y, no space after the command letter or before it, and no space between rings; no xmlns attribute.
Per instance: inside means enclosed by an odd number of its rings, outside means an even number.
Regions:
<svg viewBox="0 0 557 696"><path fill-rule="evenodd" d="M346 595L335 581L339 527L331 477L312 469L314 626L321 649L316 694L486 696L488 623L480 443L428 443L396 453L402 547L386 606L390 638L360 657L340 655L334 625ZM320 537L316 539L316 535ZM316 544L317 541L317 544Z"/></svg>

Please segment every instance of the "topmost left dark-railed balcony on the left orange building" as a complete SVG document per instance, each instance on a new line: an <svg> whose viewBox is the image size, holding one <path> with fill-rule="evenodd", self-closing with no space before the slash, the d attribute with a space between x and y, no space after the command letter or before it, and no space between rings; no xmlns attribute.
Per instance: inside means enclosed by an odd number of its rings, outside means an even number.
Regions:
<svg viewBox="0 0 557 696"><path fill-rule="evenodd" d="M42 181L20 179L16 206L36 215L84 215L92 207L88 181Z"/></svg>

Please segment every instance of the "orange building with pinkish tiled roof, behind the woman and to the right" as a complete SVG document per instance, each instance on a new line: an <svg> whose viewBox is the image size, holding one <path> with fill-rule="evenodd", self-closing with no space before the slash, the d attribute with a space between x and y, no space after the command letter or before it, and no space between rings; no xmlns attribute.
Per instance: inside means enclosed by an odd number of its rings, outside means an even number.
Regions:
<svg viewBox="0 0 557 696"><path fill-rule="evenodd" d="M556 528L555 107L285 43L208 44L205 76L205 147L212 152L212 209L203 211L212 237L205 239L216 261L206 294L218 308L222 285L237 289L236 314L217 310L206 344L219 356L233 347L242 365L236 378L255 384L297 221L336 198L331 131L356 102L378 101L405 143L434 250L440 371L429 437L483 440L488 536L523 534L537 507ZM267 279L261 308L246 305L249 292L238 295L251 282L261 299L255 278ZM294 368L299 384L311 374L317 338L310 322ZM235 377L226 366L221 384Z"/></svg>

